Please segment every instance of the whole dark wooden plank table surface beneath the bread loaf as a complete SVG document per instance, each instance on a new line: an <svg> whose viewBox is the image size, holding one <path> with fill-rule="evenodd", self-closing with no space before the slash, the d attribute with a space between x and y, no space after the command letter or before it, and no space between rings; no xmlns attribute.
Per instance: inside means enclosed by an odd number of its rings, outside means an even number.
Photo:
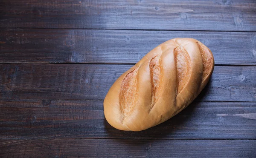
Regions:
<svg viewBox="0 0 256 158"><path fill-rule="evenodd" d="M215 69L169 121L105 120L113 82L175 37ZM255 0L1 0L0 157L256 157Z"/></svg>

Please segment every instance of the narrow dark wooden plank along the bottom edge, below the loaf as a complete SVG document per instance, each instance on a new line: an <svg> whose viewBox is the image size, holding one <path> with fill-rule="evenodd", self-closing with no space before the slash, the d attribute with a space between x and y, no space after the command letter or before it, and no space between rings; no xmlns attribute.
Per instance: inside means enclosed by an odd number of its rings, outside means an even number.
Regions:
<svg viewBox="0 0 256 158"><path fill-rule="evenodd" d="M3 157L255 158L256 140L1 140Z"/></svg>

